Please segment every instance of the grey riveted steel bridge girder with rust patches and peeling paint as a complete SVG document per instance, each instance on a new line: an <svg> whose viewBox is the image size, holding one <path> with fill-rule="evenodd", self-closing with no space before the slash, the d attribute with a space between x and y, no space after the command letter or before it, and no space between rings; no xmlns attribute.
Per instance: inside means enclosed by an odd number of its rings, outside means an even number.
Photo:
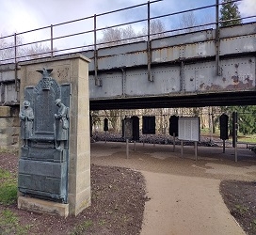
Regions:
<svg viewBox="0 0 256 235"><path fill-rule="evenodd" d="M138 41L82 52L90 108L256 104L255 52L256 23L220 28L219 41L206 29L152 39L150 50ZM19 103L14 80L15 66L0 65L1 105Z"/></svg>

